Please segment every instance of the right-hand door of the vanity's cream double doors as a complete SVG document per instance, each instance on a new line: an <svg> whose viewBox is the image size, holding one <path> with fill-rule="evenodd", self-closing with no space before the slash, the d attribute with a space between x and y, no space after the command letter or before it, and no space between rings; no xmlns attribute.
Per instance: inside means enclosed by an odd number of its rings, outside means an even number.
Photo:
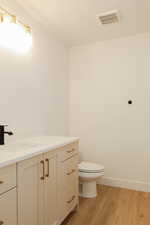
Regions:
<svg viewBox="0 0 150 225"><path fill-rule="evenodd" d="M44 185L44 224L55 225L57 223L56 207L56 155L47 153L45 158L45 185Z"/></svg>

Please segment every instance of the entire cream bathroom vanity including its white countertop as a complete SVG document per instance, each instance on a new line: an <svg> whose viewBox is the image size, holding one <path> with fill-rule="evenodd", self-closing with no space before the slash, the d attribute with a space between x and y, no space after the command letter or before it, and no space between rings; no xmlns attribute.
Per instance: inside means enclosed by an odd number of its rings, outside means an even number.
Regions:
<svg viewBox="0 0 150 225"><path fill-rule="evenodd" d="M61 224L78 206L78 139L43 137L11 148L0 149L0 225Z"/></svg>

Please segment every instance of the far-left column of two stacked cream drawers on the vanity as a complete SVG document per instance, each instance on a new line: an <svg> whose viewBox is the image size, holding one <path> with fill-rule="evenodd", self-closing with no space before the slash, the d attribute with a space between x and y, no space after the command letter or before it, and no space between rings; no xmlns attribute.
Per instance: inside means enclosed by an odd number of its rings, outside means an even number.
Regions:
<svg viewBox="0 0 150 225"><path fill-rule="evenodd" d="M17 225L16 165L0 169L0 225Z"/></svg>

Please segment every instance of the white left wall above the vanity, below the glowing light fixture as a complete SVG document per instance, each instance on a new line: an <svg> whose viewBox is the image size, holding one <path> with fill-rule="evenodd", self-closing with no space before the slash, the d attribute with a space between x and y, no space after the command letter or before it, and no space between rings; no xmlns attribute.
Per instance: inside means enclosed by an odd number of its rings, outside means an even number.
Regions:
<svg viewBox="0 0 150 225"><path fill-rule="evenodd" d="M0 48L0 124L14 132L7 141L68 132L68 50L27 19L33 30L31 52Z"/></svg>

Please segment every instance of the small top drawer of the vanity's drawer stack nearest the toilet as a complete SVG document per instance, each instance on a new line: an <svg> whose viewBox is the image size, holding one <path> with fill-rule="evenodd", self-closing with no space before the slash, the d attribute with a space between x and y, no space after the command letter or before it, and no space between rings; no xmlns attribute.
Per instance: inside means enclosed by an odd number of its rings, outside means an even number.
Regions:
<svg viewBox="0 0 150 225"><path fill-rule="evenodd" d="M62 147L58 153L58 160L63 162L76 154L78 154L78 142Z"/></svg>

